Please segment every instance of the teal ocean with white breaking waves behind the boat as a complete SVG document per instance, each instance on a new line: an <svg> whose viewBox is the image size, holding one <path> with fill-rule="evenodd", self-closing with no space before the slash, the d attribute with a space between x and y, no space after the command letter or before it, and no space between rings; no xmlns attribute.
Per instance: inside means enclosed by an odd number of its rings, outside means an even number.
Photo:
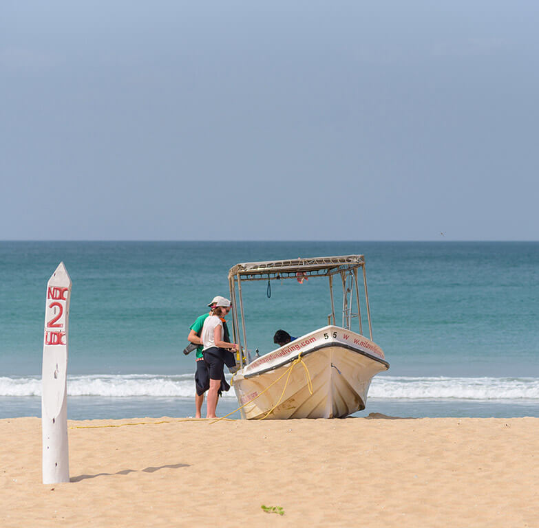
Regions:
<svg viewBox="0 0 539 528"><path fill-rule="evenodd" d="M46 285L60 261L72 278L68 418L188 417L195 360L182 349L213 296L229 297L229 268L339 254L365 255L373 338L390 362L357 416L539 416L539 243L441 239L0 242L0 418L41 415ZM331 311L324 278L243 293L260 353L277 329L301 336ZM236 407L232 389L218 415Z"/></svg>

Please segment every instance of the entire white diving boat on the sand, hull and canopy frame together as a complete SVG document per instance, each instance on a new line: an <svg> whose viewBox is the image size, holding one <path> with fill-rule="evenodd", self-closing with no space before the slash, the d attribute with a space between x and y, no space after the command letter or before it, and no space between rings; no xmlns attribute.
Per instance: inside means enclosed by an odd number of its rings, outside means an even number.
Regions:
<svg viewBox="0 0 539 528"><path fill-rule="evenodd" d="M358 270L363 270L369 338L363 336ZM328 325L253 358L247 350L242 300L244 281L326 276L330 285ZM343 287L343 323L335 325L333 278ZM269 284L269 283L268 283ZM372 377L389 369L382 349L372 340L363 255L290 261L241 263L229 271L234 340L240 344L239 369L232 385L246 419L344 418L365 408ZM268 286L269 287L269 286ZM357 311L352 312L356 302ZM359 333L350 329L357 319Z"/></svg>

